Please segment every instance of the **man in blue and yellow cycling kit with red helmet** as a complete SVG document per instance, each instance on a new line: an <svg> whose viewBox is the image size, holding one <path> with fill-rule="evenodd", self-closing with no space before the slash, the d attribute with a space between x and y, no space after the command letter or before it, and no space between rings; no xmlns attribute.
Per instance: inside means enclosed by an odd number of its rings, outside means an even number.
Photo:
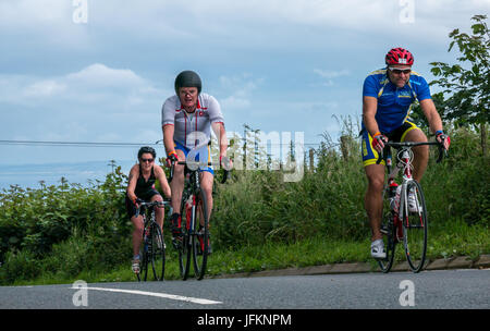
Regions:
<svg viewBox="0 0 490 331"><path fill-rule="evenodd" d="M381 226L384 163L376 164L378 152L388 140L427 142L421 130L408 120L415 100L427 118L430 131L448 149L451 139L444 134L441 118L430 96L429 85L412 71L413 54L403 48L393 48L385 56L387 68L371 72L363 87L363 162L368 179L365 208L371 226L371 256L384 258ZM414 179L420 182L429 159L428 146L414 149ZM415 197L408 195L408 207L414 211Z"/></svg>

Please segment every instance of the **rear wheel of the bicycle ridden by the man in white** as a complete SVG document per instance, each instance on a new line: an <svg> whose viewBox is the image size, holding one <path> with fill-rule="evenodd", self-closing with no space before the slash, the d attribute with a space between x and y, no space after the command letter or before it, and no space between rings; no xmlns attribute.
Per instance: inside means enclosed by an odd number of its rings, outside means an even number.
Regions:
<svg viewBox="0 0 490 331"><path fill-rule="evenodd" d="M191 269L192 238L189 226L194 219L192 207L187 206L186 201L187 199L183 196L181 201L182 241L179 243L179 269L181 272L181 278L184 281L188 278Z"/></svg>

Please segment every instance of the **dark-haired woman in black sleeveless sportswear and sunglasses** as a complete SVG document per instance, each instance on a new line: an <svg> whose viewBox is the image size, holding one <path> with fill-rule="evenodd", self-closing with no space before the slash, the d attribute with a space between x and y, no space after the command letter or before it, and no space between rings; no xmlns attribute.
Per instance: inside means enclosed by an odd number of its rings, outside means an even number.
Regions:
<svg viewBox="0 0 490 331"><path fill-rule="evenodd" d="M126 191L126 211L133 222L133 271L139 272L139 246L143 241L143 217L136 217L138 208L137 199L145 201L162 201L160 193L155 188L155 182L160 182L160 187L167 197L170 197L170 186L167 182L166 173L160 166L155 164L157 152L155 148L145 146L138 150L138 163L130 170L130 179ZM163 208L156 208L155 219L162 229Z"/></svg>

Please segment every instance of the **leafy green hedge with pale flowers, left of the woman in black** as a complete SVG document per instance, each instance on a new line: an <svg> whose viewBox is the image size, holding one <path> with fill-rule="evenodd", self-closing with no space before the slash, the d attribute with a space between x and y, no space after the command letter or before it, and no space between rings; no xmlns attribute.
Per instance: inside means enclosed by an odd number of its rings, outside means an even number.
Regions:
<svg viewBox="0 0 490 331"><path fill-rule="evenodd" d="M89 187L61 184L39 189L11 186L0 194L0 261L5 280L41 269L74 275L111 268L131 255L131 222L124 207L126 176L118 167ZM23 269L25 269L23 271ZM3 279L3 278L2 278Z"/></svg>

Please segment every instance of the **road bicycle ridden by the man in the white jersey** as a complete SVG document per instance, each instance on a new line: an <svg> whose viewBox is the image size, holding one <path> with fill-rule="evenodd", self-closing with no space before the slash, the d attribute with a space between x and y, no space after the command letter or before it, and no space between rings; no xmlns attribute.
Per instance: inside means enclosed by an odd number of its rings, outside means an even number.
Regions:
<svg viewBox="0 0 490 331"><path fill-rule="evenodd" d="M172 162L169 183L172 181L175 163L185 167L185 182L180 210L182 235L172 236L172 244L177 249L181 278L183 280L188 278L192 261L195 277L197 280L201 280L206 273L210 254L208 200L204 189L200 187L198 167L206 166L206 163L196 161ZM207 166L211 167L213 163L208 162ZM221 183L224 183L228 176L229 171L224 170Z"/></svg>

